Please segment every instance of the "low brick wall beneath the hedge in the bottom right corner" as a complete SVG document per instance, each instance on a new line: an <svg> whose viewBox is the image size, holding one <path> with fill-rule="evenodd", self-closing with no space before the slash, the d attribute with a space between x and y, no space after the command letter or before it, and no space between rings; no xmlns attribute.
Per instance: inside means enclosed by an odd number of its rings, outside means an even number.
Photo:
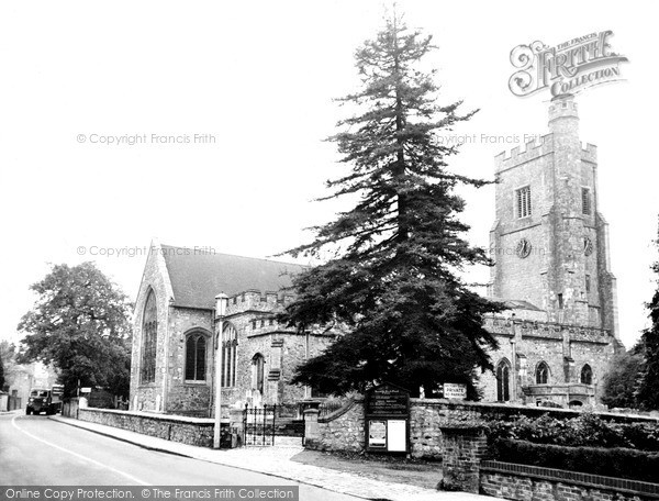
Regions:
<svg viewBox="0 0 659 501"><path fill-rule="evenodd" d="M659 499L659 483L500 461L481 463L480 487L481 492L488 496L521 501Z"/></svg>

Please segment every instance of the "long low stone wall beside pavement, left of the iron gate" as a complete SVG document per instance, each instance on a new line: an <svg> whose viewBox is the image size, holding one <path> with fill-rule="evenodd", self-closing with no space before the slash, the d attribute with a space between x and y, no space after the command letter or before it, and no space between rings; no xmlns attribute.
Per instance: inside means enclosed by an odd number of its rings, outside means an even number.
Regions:
<svg viewBox="0 0 659 501"><path fill-rule="evenodd" d="M79 409L78 419L165 438L166 441L200 447L213 446L214 422L209 419L89 408Z"/></svg>

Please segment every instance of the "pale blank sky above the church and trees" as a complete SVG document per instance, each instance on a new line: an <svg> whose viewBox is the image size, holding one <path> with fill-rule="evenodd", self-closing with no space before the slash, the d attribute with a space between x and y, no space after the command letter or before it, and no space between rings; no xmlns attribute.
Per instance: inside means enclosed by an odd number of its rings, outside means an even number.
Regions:
<svg viewBox="0 0 659 501"><path fill-rule="evenodd" d="M629 58L626 81L577 99L581 138L599 146L600 210L611 225L622 338L630 346L646 325L657 258L656 4L398 4L439 47L428 63L442 101L481 110L456 134L479 138L547 132L548 93L509 90L513 47L614 32L613 48ZM332 99L357 88L353 55L382 24L383 5L0 4L0 337L16 339L34 300L29 286L47 263L94 260L134 299L152 237L255 257L308 240L302 229L342 208L310 200L343 171L334 145L323 142L343 116ZM190 142L163 144L154 134ZM146 142L98 143L124 135ZM467 144L451 168L491 179L494 155L518 145ZM488 245L493 194L493 187L463 192L474 244ZM109 249L124 254L101 255ZM488 277L488 269L470 274Z"/></svg>

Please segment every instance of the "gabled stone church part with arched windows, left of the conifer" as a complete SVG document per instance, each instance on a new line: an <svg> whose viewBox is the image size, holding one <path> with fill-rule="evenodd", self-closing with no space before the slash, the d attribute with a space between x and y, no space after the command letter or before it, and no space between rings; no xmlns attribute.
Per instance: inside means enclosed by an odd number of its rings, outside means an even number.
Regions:
<svg viewBox="0 0 659 501"><path fill-rule="evenodd" d="M223 408L294 405L310 388L288 385L333 332L298 333L275 319L301 267L152 243L133 324L131 410L210 416L214 354L223 350ZM220 335L215 296L228 296ZM223 412L223 415L226 414Z"/></svg>

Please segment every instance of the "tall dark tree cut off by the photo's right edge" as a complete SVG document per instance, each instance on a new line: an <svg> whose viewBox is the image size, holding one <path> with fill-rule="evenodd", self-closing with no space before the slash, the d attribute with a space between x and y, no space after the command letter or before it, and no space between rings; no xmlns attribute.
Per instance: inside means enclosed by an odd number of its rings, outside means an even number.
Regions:
<svg viewBox="0 0 659 501"><path fill-rule="evenodd" d="M656 241L659 246L659 240ZM652 265L652 271L659 275L659 261ZM657 280L659 286L659 279ZM659 287L647 303L650 310L650 327L646 329L641 336L645 348L645 367L638 389L638 403L644 409L659 409Z"/></svg>

